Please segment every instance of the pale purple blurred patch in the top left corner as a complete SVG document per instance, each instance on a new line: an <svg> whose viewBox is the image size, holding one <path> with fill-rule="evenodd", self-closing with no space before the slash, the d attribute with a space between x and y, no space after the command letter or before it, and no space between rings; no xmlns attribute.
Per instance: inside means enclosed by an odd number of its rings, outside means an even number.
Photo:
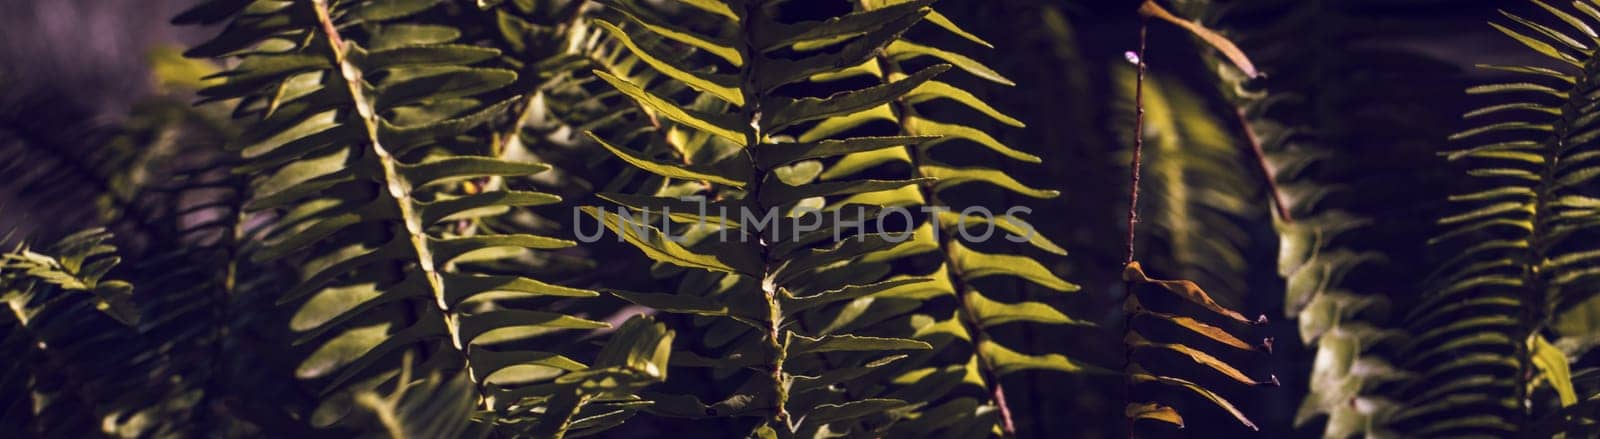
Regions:
<svg viewBox="0 0 1600 439"><path fill-rule="evenodd" d="M0 0L0 83L6 93L69 99L115 120L149 93L146 54L208 30L168 21L195 0Z"/></svg>

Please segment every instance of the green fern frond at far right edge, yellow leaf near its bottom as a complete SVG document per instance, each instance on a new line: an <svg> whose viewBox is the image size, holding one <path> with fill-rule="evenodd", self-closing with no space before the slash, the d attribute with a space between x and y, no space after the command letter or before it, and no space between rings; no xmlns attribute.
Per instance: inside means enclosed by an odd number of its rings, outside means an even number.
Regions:
<svg viewBox="0 0 1600 439"><path fill-rule="evenodd" d="M1600 175L1590 162L1597 154L1587 96L1597 67L1594 51L1579 42L1592 21L1539 5L1565 26L1509 13L1510 22L1491 26L1573 69L1557 77L1520 74L1539 88L1469 90L1504 103L1469 112L1469 120L1483 122L1451 136L1466 149L1445 152L1467 163L1483 189L1451 197L1461 213L1440 220L1445 231L1435 244L1466 250L1430 277L1427 296L1406 316L1413 336L1403 367L1421 377L1398 391L1406 407L1392 421L1416 434L1526 431L1547 407L1579 401L1570 362L1582 352L1563 352L1550 340L1590 333L1560 332L1574 327L1552 322L1589 312L1582 303L1597 285L1600 248L1587 231L1595 224L1590 200ZM1478 413L1475 421L1440 412L1466 407Z"/></svg>

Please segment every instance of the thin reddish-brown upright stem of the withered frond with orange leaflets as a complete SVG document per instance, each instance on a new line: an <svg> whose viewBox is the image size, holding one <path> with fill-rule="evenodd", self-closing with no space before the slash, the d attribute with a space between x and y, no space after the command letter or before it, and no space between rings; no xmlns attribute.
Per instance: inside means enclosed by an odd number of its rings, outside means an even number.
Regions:
<svg viewBox="0 0 1600 439"><path fill-rule="evenodd" d="M1138 64L1133 83L1133 157L1128 163L1128 239L1126 252L1123 253L1122 264L1123 269L1133 264L1134 256L1134 237L1139 224L1139 173L1142 171L1144 162L1144 46L1146 34L1149 34L1149 16L1139 14L1139 51ZM1138 308L1138 298L1133 295L1134 282L1123 284L1123 351L1122 351L1122 372L1126 375L1123 378L1123 404L1133 402L1133 375L1130 367L1133 367L1133 344L1126 343L1128 335L1133 333L1133 316ZM1123 417L1128 426L1128 437L1133 437L1133 417Z"/></svg>

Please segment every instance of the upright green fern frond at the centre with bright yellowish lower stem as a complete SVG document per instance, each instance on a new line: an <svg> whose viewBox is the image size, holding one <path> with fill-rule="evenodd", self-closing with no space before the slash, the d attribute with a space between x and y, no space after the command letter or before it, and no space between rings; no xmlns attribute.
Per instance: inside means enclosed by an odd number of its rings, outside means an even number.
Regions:
<svg viewBox="0 0 1600 439"><path fill-rule="evenodd" d="M824 168L814 159L896 147L920 141L920 138L819 136L800 138L797 143L781 139L798 133L798 128L811 125L813 120L882 107L915 95L915 90L933 83L931 77L946 67L930 67L883 85L846 88L826 98L795 98L782 91L781 87L808 82L818 75L834 75L874 61L878 50L890 46L901 32L930 13L925 5L926 2L901 3L821 22L782 22L758 2L707 2L702 5L730 13L725 14L726 21L722 24L722 29L728 29L725 35L733 35L730 38L696 34L656 21L654 18L659 14L653 13L648 5L608 3L642 29L630 32L616 24L600 26L621 34L619 38L624 38L624 45L645 64L651 64L662 75L694 88L698 98L691 104L678 104L672 96L656 95L629 79L610 72L597 72L597 75L648 112L691 130L691 139L709 141L707 146L731 154L707 157L685 151L688 154L683 155L690 162L674 163L654 160L646 152L634 152L626 144L602 139L606 149L640 170L662 178L709 183L734 208L731 213L736 216L741 213L760 216L766 211L778 215L774 223L741 223L738 228L706 220L699 226L688 226L690 232L680 236L664 234L669 231L659 228L638 228L638 221L629 221L603 210L589 210L603 220L608 229L658 261L722 272L709 277L685 274L685 282L702 279L699 282L704 284L699 285L714 287L709 292L680 288L680 293L690 295L683 300L698 303L694 306L672 306L658 295L619 293L619 296L666 311L723 317L725 320L718 320L707 332L707 336L715 335L722 340L702 340L702 343L722 349L722 356L726 359L702 357L685 360L685 365L755 367L762 370L738 391L750 405L733 413L766 417L768 421L758 428L758 433L765 431L765 434L779 434L781 437L808 436L824 429L864 433L870 429L854 426L859 418L874 412L893 417L910 409L904 399L816 393L813 389L822 388L802 388L798 383L813 380L810 377L827 377L829 370L862 367L874 360L893 360L893 357L882 357L880 351L885 349L917 351L928 348L926 343L915 340L851 335L850 328L818 330L813 317L805 312L827 303L910 292L931 282L915 277L867 284L874 279L840 271L846 264L875 263L906 252L926 252L912 250L925 248L920 239L925 232L915 232L914 236L918 239L912 240L890 240L883 234L840 239L826 229L819 229L824 232L787 232L784 229L798 226L800 221L810 221L805 216L813 215L819 224L832 224L824 218L840 210L827 207L827 200L931 181L918 178L816 181ZM640 37L650 34L696 46L726 64L710 70L685 70L658 62L654 59L662 59L661 53L637 43ZM821 46L837 50L819 51ZM738 56L731 56L734 53ZM707 184L699 187L707 187ZM674 202L670 192L658 194L656 199L610 199L627 203L634 211L648 211ZM699 220L699 215L696 218ZM838 216L834 220L838 221ZM733 343L730 344L730 341ZM686 405L659 407L658 410L664 415L706 417L706 413L717 413L715 417L725 417L728 412L717 410L717 404L707 405L693 397L678 397L674 404L664 405Z"/></svg>

